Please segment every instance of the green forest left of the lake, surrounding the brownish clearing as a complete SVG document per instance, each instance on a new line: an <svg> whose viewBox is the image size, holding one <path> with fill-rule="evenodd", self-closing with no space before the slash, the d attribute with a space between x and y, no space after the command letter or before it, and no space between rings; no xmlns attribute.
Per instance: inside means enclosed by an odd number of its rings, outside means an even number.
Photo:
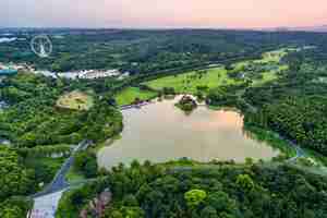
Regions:
<svg viewBox="0 0 327 218"><path fill-rule="evenodd" d="M0 98L9 105L0 110L0 138L10 142L0 145L0 217L25 217L32 203L19 196L51 182L83 140L98 143L118 134L122 116L107 97L94 97L89 110L58 107L61 95L84 87L77 82L22 72L3 78L0 86Z"/></svg>

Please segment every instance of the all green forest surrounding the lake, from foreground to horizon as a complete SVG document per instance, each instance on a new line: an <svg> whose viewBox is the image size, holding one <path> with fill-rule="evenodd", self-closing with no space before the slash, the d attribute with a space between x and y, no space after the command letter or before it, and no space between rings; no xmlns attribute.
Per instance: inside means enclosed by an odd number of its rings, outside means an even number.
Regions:
<svg viewBox="0 0 327 218"><path fill-rule="evenodd" d="M48 34L53 43L53 53L47 59L38 59L29 49L28 41L40 33ZM0 62L27 62L37 69L63 72L119 69L132 75L123 81L71 81L20 72L1 78L0 99L9 107L0 110L0 140L9 140L11 144L0 145L3 175L0 217L25 217L32 205L26 196L52 180L74 145L86 138L100 144L120 133L122 116L113 99L117 93L131 85L140 92L153 92L145 82L173 77L190 69L199 76L190 74L185 80L207 105L235 107L244 114L245 128L272 131L324 158L327 156L326 34L17 29L14 36L21 40L0 44ZM294 49L305 46L311 49ZM251 62L240 69L234 65L286 47L293 50L277 62ZM215 69L199 69L216 63L223 64L216 70L223 71L226 81L233 82L226 85L225 80L215 76L221 83L197 86L202 78L216 75ZM279 65L287 68L280 70ZM272 76L264 77L262 72L271 69ZM58 106L58 99L75 90L92 99L89 109ZM175 92L164 87L158 94ZM53 154L60 156L52 158ZM327 215L326 177L299 166L266 162L208 168L178 165L162 168L135 161L131 167L121 165L106 171L98 169L96 153L90 148L76 154L74 169L94 180L65 194L57 216L84 218L100 213L108 218L324 218ZM89 206L106 192L112 196L107 196L110 201L104 209Z"/></svg>

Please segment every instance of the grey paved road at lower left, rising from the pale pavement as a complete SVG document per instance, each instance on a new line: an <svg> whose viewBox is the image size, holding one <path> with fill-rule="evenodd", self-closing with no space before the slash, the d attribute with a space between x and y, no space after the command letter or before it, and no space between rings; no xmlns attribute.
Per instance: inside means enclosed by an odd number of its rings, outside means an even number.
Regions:
<svg viewBox="0 0 327 218"><path fill-rule="evenodd" d="M75 153L86 149L90 144L92 144L92 142L89 142L89 141L82 141L74 148L71 156L61 166L60 170L57 172L57 174L56 174L55 179L52 180L52 182L49 185L47 185L41 192L36 193L32 197L37 198L37 197L40 197L40 196L44 196L44 195L48 195L48 194L68 189L70 186L70 184L65 180L65 174L68 173L68 171L70 170L71 166L74 162Z"/></svg>

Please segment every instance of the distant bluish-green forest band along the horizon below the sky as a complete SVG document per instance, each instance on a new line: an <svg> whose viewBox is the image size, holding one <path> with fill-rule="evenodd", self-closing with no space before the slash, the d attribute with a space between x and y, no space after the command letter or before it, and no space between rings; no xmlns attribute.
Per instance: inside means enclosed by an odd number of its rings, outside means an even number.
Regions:
<svg viewBox="0 0 327 218"><path fill-rule="evenodd" d="M31 51L28 41L37 34L50 36L50 58L38 59ZM213 29L19 29L14 36L20 40L0 44L0 62L27 62L37 69L63 72L119 69L131 73L254 59L279 46L326 40L324 34Z"/></svg>

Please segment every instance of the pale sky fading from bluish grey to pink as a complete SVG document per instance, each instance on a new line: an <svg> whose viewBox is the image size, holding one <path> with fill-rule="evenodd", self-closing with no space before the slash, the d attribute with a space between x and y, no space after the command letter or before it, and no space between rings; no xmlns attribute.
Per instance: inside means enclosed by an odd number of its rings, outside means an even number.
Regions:
<svg viewBox="0 0 327 218"><path fill-rule="evenodd" d="M300 27L327 25L327 1L0 0L0 27Z"/></svg>

